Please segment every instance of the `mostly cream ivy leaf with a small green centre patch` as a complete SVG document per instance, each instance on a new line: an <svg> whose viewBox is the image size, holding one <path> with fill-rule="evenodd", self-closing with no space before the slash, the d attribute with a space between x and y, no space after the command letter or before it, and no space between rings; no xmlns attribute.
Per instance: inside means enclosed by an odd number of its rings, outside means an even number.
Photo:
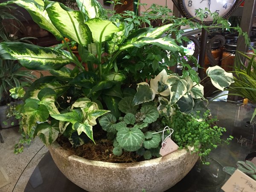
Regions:
<svg viewBox="0 0 256 192"><path fill-rule="evenodd" d="M165 69L163 69L154 79L150 80L150 88L153 89L156 94L160 94L161 96L169 96L169 87L164 83L167 77L167 72Z"/></svg>

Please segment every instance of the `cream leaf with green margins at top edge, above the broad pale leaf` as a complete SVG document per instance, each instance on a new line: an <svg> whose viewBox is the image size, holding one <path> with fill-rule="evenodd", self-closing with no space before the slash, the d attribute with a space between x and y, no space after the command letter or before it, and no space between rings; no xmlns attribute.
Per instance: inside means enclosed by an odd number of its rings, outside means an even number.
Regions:
<svg viewBox="0 0 256 192"><path fill-rule="evenodd" d="M95 17L107 17L107 12L97 0L76 0L79 9L89 19ZM87 18L85 18L87 20Z"/></svg>

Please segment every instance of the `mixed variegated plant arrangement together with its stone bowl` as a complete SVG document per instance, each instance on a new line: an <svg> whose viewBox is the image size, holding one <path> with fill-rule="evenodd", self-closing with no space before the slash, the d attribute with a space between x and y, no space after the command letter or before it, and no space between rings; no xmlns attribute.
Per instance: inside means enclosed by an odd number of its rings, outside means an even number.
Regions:
<svg viewBox="0 0 256 192"><path fill-rule="evenodd" d="M198 156L203 160L221 143L225 129L212 125L203 86L187 64L193 58L184 57L178 44L177 26L194 23L155 5L151 17L108 18L96 0L77 0L80 11L52 1L8 3L27 9L41 28L64 42L56 47L2 42L0 57L52 74L36 80L25 95L20 88L12 94L23 97L19 113L25 133L40 137L61 172L78 186L97 192L164 191ZM150 18L162 18L164 25L139 27L150 25ZM64 37L78 44L81 61ZM182 76L169 70L177 62ZM73 70L65 67L70 63ZM232 73L218 66L209 67L207 76L221 90L233 82ZM170 137L180 149L160 157Z"/></svg>

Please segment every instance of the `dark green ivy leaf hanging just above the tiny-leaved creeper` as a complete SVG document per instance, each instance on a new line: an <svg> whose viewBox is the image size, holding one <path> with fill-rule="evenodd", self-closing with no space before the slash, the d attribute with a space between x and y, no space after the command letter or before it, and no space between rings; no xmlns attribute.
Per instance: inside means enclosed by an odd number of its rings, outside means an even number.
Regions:
<svg viewBox="0 0 256 192"><path fill-rule="evenodd" d="M204 121L204 113L208 110L208 100L207 99L194 99L194 108L190 113L198 121Z"/></svg>

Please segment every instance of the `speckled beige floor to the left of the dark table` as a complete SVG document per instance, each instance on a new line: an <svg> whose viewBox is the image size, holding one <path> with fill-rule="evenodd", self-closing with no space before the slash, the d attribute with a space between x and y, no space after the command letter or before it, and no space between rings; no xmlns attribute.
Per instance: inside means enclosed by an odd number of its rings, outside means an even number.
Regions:
<svg viewBox="0 0 256 192"><path fill-rule="evenodd" d="M14 154L14 145L20 138L18 127L2 129L0 133L4 140L4 143L0 143L0 166L11 182L0 188L0 192L23 192L35 166L48 149L37 137L30 146L24 148L23 153Z"/></svg>

